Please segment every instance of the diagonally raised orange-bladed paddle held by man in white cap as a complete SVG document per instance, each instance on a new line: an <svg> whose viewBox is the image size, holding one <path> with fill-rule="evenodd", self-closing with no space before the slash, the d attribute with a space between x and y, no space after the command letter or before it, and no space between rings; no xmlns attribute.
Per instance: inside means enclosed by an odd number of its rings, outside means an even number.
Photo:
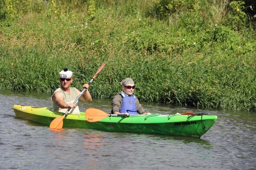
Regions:
<svg viewBox="0 0 256 170"><path fill-rule="evenodd" d="M103 63L100 68L98 69L98 71L96 72L96 74L93 76L93 78L91 78L91 80L88 82L88 84L90 85L91 82L93 82L93 80L95 79L95 77L99 74L99 72L102 70L102 68L105 66L105 64ZM73 104L76 103L76 101L80 98L80 96L85 92L87 88L84 88L83 91L79 94L79 96L76 97L75 101L73 102ZM50 124L50 128L56 128L56 129L60 129L63 126L63 119L67 116L69 110L71 109L71 107L68 108L68 110L61 116L61 117L57 117L55 118L51 124Z"/></svg>

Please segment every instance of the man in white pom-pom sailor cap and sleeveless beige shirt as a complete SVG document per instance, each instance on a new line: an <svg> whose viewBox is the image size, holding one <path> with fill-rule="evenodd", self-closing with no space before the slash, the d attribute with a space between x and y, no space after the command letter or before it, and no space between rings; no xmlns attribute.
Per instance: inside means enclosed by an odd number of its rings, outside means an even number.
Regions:
<svg viewBox="0 0 256 170"><path fill-rule="evenodd" d="M60 87L55 90L51 99L53 101L53 108L55 111L65 113L68 108L71 107L72 109L70 109L68 113L80 114L79 107L77 106L78 101L75 104L73 104L73 102L81 92L78 89L71 87L71 83L73 81L72 74L73 72L68 71L67 68L59 73ZM85 90L84 95L81 95L79 100L83 102L91 102L92 98L88 91L89 84L84 84L83 89L84 88L87 89Z"/></svg>

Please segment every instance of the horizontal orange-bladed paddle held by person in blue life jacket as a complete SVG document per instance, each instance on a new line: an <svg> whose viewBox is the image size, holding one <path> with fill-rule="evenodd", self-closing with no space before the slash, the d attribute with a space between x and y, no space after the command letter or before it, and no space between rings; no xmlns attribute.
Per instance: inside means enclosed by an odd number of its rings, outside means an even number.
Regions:
<svg viewBox="0 0 256 170"><path fill-rule="evenodd" d="M186 112L182 113L182 115L190 115L190 114L195 114L192 112ZM130 114L133 115L133 114ZM136 116L135 114L134 116ZM95 108L89 108L85 111L85 120L88 122L98 122L106 117L111 117L111 116L121 116L121 117L129 117L126 114L108 114L102 110L95 109Z"/></svg>

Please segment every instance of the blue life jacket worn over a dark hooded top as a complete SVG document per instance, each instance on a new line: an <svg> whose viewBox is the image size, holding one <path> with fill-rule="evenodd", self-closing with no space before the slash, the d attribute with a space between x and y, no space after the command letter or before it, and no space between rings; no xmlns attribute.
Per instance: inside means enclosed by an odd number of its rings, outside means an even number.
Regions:
<svg viewBox="0 0 256 170"><path fill-rule="evenodd" d="M122 106L120 108L120 113L130 113L130 114L137 114L137 107L136 107L136 102L135 99L136 97L132 94L131 96L127 96L124 93L119 93L122 98Z"/></svg>

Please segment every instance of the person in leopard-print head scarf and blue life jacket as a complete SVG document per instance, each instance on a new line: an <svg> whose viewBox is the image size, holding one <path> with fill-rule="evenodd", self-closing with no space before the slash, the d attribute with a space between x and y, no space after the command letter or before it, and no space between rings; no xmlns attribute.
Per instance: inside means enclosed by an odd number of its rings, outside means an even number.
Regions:
<svg viewBox="0 0 256 170"><path fill-rule="evenodd" d="M125 78L121 82L123 91L114 96L112 101L112 113L113 114L151 114L145 112L138 98L132 93L135 89L134 82L131 78Z"/></svg>

